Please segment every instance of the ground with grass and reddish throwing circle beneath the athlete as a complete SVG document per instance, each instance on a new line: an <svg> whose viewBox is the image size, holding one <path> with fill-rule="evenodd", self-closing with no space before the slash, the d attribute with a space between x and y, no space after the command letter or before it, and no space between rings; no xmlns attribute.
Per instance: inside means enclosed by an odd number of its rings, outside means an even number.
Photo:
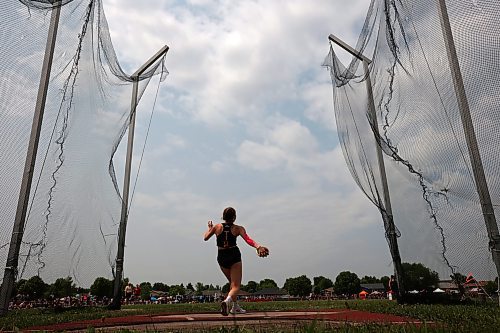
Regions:
<svg viewBox="0 0 500 333"><path fill-rule="evenodd" d="M12 311L3 331L153 332L498 332L498 304L398 305L386 300L242 303L223 317L218 304L134 305Z"/></svg>

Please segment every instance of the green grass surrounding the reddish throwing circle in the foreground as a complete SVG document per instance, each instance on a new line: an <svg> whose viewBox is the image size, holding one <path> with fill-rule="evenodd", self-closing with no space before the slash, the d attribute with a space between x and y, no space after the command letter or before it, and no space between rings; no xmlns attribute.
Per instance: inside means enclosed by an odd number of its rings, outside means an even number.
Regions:
<svg viewBox="0 0 500 333"><path fill-rule="evenodd" d="M364 301L282 301L244 303L247 310L321 310L321 309L357 309L362 311L395 314L419 319L424 322L420 327L383 326L380 324L346 325L331 327L328 323L312 322L293 326L289 329L276 327L265 330L251 328L220 328L207 332L500 332L500 307L498 304L482 305L398 305L387 300ZM0 317L0 328L20 330L31 326L81 321L86 319L102 319L135 314L159 313L201 313L217 312L218 304L164 304L124 306L121 311L109 311L105 308L81 308L62 312L54 310L19 310L11 311ZM426 322L433 324L427 325ZM89 331L92 331L89 328ZM199 331L199 330L198 330Z"/></svg>

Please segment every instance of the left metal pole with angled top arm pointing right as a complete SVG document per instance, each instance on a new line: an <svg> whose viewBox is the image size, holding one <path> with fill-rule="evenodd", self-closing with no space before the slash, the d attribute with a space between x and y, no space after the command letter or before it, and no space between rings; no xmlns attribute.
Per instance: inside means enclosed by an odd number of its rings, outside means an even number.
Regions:
<svg viewBox="0 0 500 333"><path fill-rule="evenodd" d="M115 280L113 284L113 303L109 306L110 309L119 310L121 308L122 299L122 278L123 278L123 260L125 256L125 235L127 232L128 220L128 197L130 190L130 171L132 168L132 150L134 147L134 130L135 130L135 114L137 109L137 95L139 91L139 77L146 71L155 61L160 59L168 51L168 46L162 47L154 56L152 56L144 65L142 65L134 74L132 80L132 100L130 103L130 123L128 129L128 145L127 157L125 161L125 177L123 180L123 198L122 210L120 217L120 227L118 229L118 251L116 254L116 269Z"/></svg>

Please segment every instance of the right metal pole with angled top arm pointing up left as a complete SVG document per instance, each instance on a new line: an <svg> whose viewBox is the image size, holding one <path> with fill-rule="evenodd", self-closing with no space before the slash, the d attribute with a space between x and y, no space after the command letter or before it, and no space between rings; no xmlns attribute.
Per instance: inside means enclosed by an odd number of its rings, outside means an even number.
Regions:
<svg viewBox="0 0 500 333"><path fill-rule="evenodd" d="M340 47L342 47L344 50L355 56L356 58L360 59L363 62L363 68L365 71L366 75L366 91L368 93L368 112L369 116L373 122L373 130L376 131L374 133L375 136L375 141L377 142L376 150L377 150L377 161L378 161L378 167L379 167L379 172L380 172L380 177L381 177L381 182L382 182L382 189L383 189L383 195L384 195L384 203L385 203L385 211L387 213L387 224L388 224L388 240L389 240L389 250L391 252L392 256L392 261L394 264L394 273L396 275L396 281L398 284L398 293L397 293L397 298L398 300L403 299L403 295L405 293L404 285L403 285L403 266L401 264L401 255L399 253L399 246L398 246L398 239L396 236L396 226L394 225L394 218L392 215L392 206L391 206L391 197L389 195L389 185L387 182L387 174L385 172L385 163L384 163L384 158L382 155L382 148L381 148L381 143L380 143L380 133L378 132L378 121L377 121L377 114L375 112L375 103L373 101L373 90L372 90L372 84L371 84L371 79L370 79L370 70L368 68L368 65L371 63L371 60L365 57L361 52L356 51L346 43L344 43L342 40L337 38L334 35L330 35L328 37L332 42L336 43Z"/></svg>

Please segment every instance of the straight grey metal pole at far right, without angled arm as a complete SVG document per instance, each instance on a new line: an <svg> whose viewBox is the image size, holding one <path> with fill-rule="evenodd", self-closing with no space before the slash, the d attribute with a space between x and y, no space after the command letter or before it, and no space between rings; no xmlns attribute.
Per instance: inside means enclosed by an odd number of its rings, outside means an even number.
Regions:
<svg viewBox="0 0 500 333"><path fill-rule="evenodd" d="M493 262L495 263L497 269L497 276L500 276L500 235L498 232L498 224L495 218L495 211L491 203L488 183L486 182L483 163L481 161L476 134L472 124L469 102L467 101L467 95L465 93L462 72L460 71L460 64L458 62L457 51L453 40L445 0L438 0L438 10L446 46L446 53L448 54L448 61L450 63L453 87L455 88L455 94L457 96L458 110L460 112L460 117L462 118L462 126L465 132L465 142L467 143L467 148L469 150L472 172L474 174L476 189L479 194L479 201L481 203L484 222L488 232L489 247L491 249Z"/></svg>

